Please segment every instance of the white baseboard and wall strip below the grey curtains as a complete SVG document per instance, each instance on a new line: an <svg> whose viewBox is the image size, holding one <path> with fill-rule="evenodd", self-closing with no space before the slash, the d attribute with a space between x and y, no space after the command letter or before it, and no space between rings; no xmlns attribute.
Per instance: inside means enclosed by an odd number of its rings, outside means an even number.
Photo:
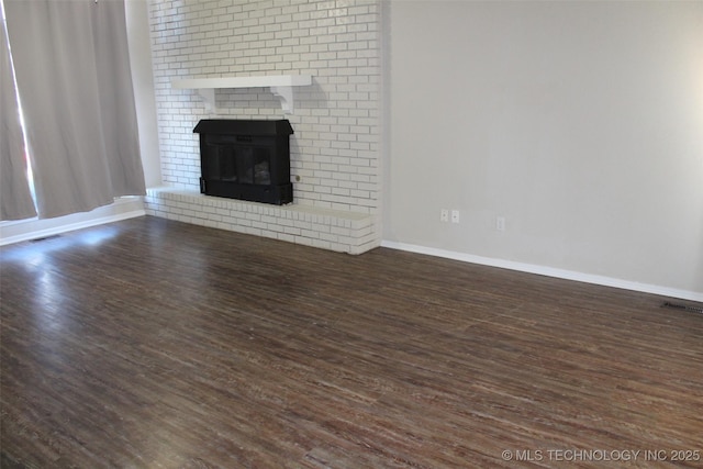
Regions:
<svg viewBox="0 0 703 469"><path fill-rule="evenodd" d="M118 199L113 204L85 213L74 213L56 219L2 222L0 223L0 246L144 215L146 212L143 199L133 197Z"/></svg>

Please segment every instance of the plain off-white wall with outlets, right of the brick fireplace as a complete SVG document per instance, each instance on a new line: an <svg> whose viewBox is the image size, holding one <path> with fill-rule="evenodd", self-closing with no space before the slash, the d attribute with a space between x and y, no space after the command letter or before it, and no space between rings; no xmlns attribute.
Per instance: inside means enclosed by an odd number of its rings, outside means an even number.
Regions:
<svg viewBox="0 0 703 469"><path fill-rule="evenodd" d="M388 7L388 245L703 298L703 2Z"/></svg>

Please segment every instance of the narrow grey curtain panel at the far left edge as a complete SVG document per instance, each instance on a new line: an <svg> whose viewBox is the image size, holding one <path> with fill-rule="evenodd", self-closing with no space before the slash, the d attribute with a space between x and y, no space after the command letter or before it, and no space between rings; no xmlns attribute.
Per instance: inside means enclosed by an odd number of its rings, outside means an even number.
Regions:
<svg viewBox="0 0 703 469"><path fill-rule="evenodd" d="M26 178L20 107L4 23L0 27L0 220L36 216Z"/></svg>

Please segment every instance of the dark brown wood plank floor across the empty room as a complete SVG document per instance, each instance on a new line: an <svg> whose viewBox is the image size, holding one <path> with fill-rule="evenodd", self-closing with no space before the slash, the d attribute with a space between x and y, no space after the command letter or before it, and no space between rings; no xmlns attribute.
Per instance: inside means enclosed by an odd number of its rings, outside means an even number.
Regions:
<svg viewBox="0 0 703 469"><path fill-rule="evenodd" d="M0 260L2 468L703 466L669 299L156 217Z"/></svg>

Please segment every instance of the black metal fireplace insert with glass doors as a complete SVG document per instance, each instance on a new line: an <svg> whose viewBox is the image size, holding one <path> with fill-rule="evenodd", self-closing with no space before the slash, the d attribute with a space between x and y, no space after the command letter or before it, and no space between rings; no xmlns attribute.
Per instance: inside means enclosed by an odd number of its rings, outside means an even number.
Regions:
<svg viewBox="0 0 703 469"><path fill-rule="evenodd" d="M293 201L287 120L202 120L200 192L282 205Z"/></svg>

